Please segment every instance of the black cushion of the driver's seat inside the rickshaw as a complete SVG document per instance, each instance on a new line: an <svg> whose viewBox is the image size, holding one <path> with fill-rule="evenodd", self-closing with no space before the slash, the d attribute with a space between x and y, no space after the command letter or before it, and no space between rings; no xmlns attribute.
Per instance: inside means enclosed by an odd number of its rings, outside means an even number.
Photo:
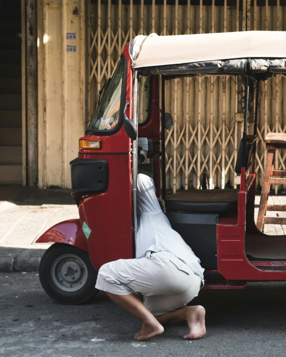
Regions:
<svg viewBox="0 0 286 357"><path fill-rule="evenodd" d="M237 211L238 190L182 190L166 200L166 210L228 213Z"/></svg>

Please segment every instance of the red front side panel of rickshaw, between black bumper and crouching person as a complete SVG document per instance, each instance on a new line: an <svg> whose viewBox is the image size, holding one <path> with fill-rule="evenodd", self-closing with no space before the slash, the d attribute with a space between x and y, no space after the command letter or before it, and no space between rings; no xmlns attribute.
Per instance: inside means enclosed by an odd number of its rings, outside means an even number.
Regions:
<svg viewBox="0 0 286 357"><path fill-rule="evenodd" d="M98 158L108 162L107 191L86 196L79 205L81 227L85 222L91 230L86 244L97 270L104 263L133 258L130 154Z"/></svg>

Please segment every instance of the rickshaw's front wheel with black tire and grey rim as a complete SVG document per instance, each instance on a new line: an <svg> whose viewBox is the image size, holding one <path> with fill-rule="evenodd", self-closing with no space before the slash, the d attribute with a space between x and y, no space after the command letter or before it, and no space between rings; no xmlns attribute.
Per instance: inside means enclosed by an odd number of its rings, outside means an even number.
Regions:
<svg viewBox="0 0 286 357"><path fill-rule="evenodd" d="M97 272L83 250L54 243L41 258L39 280L43 290L60 304L82 304L94 296Z"/></svg>

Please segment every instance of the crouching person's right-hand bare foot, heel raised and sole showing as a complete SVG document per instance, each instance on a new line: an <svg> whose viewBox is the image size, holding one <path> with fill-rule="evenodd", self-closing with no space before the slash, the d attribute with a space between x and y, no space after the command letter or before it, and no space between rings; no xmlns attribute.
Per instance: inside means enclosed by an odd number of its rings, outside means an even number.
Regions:
<svg viewBox="0 0 286 357"><path fill-rule="evenodd" d="M196 340L201 339L205 335L204 317L205 310L202 306L187 307L185 320L189 333L183 337L184 339Z"/></svg>

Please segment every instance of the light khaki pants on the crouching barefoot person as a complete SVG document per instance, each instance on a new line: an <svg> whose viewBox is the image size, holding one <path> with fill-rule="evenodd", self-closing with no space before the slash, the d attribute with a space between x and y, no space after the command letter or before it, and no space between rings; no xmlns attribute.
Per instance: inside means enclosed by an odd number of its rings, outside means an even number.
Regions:
<svg viewBox="0 0 286 357"><path fill-rule="evenodd" d="M145 307L159 316L185 306L197 296L201 285L201 279L185 263L162 251L104 264L95 288L116 295L140 293Z"/></svg>

